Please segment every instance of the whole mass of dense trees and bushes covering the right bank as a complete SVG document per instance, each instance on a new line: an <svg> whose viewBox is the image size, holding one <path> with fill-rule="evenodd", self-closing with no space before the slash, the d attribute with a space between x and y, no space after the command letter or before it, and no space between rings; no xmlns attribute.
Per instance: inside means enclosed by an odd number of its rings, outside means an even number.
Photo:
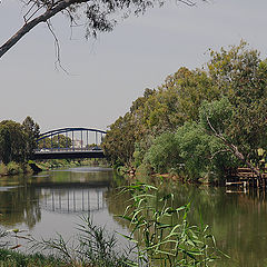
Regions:
<svg viewBox="0 0 267 267"><path fill-rule="evenodd" d="M210 51L202 69L182 67L157 89L146 89L110 126L106 155L113 166L190 180L224 179L241 165L260 175L266 85L267 60L246 42Z"/></svg>

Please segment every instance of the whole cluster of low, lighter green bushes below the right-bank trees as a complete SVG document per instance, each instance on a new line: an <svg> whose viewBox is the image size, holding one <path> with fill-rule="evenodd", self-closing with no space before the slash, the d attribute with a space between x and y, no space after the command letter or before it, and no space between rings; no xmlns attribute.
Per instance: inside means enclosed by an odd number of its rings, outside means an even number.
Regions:
<svg viewBox="0 0 267 267"><path fill-rule="evenodd" d="M204 103L201 110L209 105ZM221 129L220 125L218 127ZM157 172L175 171L184 179L207 178L209 181L222 181L237 164L227 146L216 136L208 135L202 122L186 122L175 134L157 137L145 159Z"/></svg>

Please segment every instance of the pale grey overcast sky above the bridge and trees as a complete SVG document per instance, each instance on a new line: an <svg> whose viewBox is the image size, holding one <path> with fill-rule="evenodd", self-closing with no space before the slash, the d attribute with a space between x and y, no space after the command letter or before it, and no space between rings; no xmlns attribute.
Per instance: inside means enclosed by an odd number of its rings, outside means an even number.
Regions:
<svg viewBox="0 0 267 267"><path fill-rule="evenodd" d="M52 19L61 63L55 68L55 42L39 24L0 59L0 120L31 116L41 131L63 127L108 129L146 88L157 88L180 67L201 68L208 49L246 40L266 57L266 0L210 0L189 8L167 1L162 8L120 21L98 39L72 32L68 20ZM0 43L23 23L18 0L0 3Z"/></svg>

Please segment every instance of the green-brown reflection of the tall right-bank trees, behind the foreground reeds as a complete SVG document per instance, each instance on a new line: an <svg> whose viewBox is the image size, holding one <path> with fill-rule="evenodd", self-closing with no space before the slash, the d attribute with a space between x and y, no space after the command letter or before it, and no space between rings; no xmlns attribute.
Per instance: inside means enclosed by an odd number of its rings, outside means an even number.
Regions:
<svg viewBox="0 0 267 267"><path fill-rule="evenodd" d="M108 209L110 214L121 215L129 205L130 196L117 192L110 190L107 194ZM202 219L205 225L210 226L217 246L231 257L230 260L219 261L216 266L265 266L267 201L264 192L226 194L225 188L162 185L159 195L168 192L174 194L175 207L191 202L188 221L191 225L200 225ZM115 219L122 227L129 228L126 221Z"/></svg>

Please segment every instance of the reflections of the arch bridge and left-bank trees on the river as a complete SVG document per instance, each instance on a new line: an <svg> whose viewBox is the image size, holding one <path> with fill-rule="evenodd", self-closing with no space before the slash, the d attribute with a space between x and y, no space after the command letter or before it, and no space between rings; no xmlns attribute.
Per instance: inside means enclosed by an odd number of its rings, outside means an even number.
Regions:
<svg viewBox="0 0 267 267"><path fill-rule="evenodd" d="M105 194L112 171L103 168L71 168L0 179L0 225L30 230L41 221L41 210L82 214L106 209Z"/></svg>

